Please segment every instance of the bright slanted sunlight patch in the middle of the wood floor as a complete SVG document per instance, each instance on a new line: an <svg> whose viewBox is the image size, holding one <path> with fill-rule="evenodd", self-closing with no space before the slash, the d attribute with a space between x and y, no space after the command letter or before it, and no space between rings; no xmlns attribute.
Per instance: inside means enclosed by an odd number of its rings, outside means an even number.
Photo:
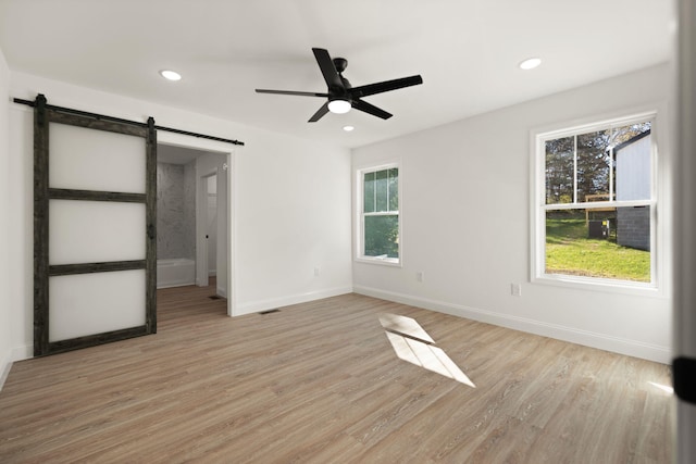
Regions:
<svg viewBox="0 0 696 464"><path fill-rule="evenodd" d="M380 322L399 359L476 388L447 353L435 347L435 341L415 319L397 314L384 314Z"/></svg>

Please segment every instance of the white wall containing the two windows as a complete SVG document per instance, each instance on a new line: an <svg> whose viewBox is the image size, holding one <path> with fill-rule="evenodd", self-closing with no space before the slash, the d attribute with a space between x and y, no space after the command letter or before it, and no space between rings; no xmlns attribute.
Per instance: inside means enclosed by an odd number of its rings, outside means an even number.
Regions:
<svg viewBox="0 0 696 464"><path fill-rule="evenodd" d="M657 66L353 150L353 168L401 160L403 224L402 267L355 262L356 291L669 362L669 289L645 297L530 284L530 134L658 110L664 172L670 85L668 66ZM669 223L662 193L660 220ZM521 297L511 296L513 283Z"/></svg>

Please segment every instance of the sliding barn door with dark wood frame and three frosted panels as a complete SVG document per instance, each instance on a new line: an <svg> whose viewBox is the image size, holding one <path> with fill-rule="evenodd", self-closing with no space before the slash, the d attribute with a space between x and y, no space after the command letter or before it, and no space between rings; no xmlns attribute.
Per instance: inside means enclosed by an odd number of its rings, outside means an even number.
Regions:
<svg viewBox="0 0 696 464"><path fill-rule="evenodd" d="M153 334L153 120L105 121L39 95L34 137L34 354Z"/></svg>

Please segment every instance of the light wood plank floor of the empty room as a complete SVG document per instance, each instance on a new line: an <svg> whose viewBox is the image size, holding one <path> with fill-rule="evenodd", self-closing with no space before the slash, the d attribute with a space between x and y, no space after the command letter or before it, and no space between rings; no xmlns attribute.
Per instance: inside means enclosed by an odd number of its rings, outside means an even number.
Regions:
<svg viewBox="0 0 696 464"><path fill-rule="evenodd" d="M228 318L212 293L160 290L157 335L15 363L0 462L671 461L668 366L358 294ZM398 359L381 313L476 387Z"/></svg>

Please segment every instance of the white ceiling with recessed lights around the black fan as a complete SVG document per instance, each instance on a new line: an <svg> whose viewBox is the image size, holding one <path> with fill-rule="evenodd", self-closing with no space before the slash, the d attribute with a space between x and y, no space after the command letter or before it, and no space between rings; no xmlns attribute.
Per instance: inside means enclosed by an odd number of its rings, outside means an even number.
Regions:
<svg viewBox="0 0 696 464"><path fill-rule="evenodd" d="M671 4L0 0L0 49L12 71L359 147L666 62ZM390 120L353 110L310 124L322 99L254 88L324 92L312 47L346 58L353 86L413 74L424 84L365 98ZM519 70L529 57L542 66ZM165 81L163 68L184 78Z"/></svg>

